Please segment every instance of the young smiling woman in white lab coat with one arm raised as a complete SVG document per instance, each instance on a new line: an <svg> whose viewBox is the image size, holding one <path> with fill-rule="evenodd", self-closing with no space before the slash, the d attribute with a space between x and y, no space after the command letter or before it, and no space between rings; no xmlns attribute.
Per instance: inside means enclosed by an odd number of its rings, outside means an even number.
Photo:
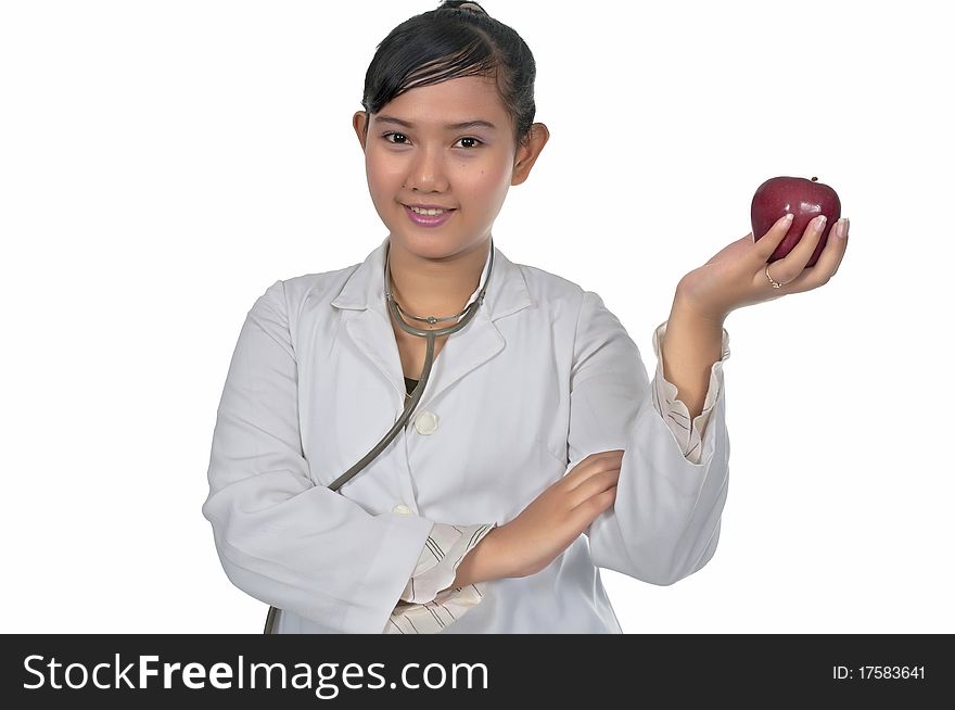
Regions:
<svg viewBox="0 0 955 710"><path fill-rule="evenodd" d="M673 584L716 549L725 318L826 283L846 241L805 269L811 228L771 275L780 220L689 271L649 380L596 293L492 240L549 137L534 78L478 3L396 27L354 116L387 238L249 312L203 514L267 631L620 633L599 568Z"/></svg>

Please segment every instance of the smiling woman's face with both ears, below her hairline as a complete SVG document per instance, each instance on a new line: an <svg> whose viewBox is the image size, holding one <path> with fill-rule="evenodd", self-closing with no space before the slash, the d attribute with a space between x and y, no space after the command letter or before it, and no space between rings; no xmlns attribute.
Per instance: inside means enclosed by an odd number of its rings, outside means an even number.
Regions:
<svg viewBox="0 0 955 710"><path fill-rule="evenodd" d="M393 240L426 258L484 243L508 188L526 178L532 157L543 148L537 140L515 151L513 125L486 77L406 91L371 114L367 138L365 119L366 113L358 112L354 125L374 208ZM470 122L491 126L454 126ZM522 167L515 170L519 162ZM410 205L436 205L449 213L438 226L424 226L409 214Z"/></svg>

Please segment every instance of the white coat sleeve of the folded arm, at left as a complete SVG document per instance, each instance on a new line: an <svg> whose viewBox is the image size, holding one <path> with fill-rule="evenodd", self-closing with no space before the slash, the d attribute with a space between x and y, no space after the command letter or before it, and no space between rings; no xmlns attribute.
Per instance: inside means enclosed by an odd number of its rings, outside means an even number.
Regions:
<svg viewBox="0 0 955 710"><path fill-rule="evenodd" d="M381 633L433 522L317 486L298 429L284 283L250 309L217 410L202 512L229 580L341 633Z"/></svg>

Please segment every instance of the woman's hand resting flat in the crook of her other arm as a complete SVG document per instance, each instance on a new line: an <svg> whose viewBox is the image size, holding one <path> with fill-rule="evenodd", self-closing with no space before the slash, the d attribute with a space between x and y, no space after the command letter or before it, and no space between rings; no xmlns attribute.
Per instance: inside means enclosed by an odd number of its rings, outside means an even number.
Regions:
<svg viewBox="0 0 955 710"><path fill-rule="evenodd" d="M623 454L619 448L590 454L517 518L488 533L505 576L536 574L613 505Z"/></svg>

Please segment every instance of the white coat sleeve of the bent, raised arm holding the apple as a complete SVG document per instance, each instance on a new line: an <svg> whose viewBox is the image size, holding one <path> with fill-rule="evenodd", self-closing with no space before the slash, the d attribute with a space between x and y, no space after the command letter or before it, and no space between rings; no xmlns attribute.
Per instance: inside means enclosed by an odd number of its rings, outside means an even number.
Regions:
<svg viewBox="0 0 955 710"><path fill-rule="evenodd" d="M596 566L668 585L713 556L729 470L724 389L715 396L695 462L653 404L636 344L600 296L584 293L571 368L566 472L590 454L624 451L614 505L586 531Z"/></svg>

